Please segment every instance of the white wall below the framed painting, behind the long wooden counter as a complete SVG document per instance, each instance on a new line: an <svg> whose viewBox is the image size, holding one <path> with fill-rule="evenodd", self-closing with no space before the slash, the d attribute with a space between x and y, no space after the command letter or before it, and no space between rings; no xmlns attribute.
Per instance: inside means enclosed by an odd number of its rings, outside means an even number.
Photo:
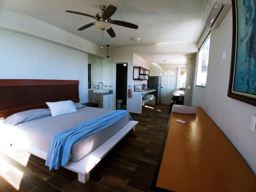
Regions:
<svg viewBox="0 0 256 192"><path fill-rule="evenodd" d="M192 104L202 106L256 174L256 133L249 131L256 107L227 97L232 46L232 10L218 29L211 31L206 88L194 87ZM222 60L226 51L226 60Z"/></svg>

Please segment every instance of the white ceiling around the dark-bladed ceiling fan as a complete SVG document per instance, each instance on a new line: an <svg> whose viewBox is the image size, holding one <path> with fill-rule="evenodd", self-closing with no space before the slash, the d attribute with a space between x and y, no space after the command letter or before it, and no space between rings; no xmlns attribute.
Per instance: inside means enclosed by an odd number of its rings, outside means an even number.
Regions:
<svg viewBox="0 0 256 192"><path fill-rule="evenodd" d="M65 10L95 15L100 12L99 5L112 4L117 7L112 19L134 23L139 29L112 25L116 37L111 38L105 33L104 44L126 47L159 42L197 42L203 30L203 2L204 0L1 0L0 6L35 17L100 45L101 33L94 26L77 31L79 27L95 20L66 13ZM131 40L133 37L140 37L141 41L134 42Z"/></svg>

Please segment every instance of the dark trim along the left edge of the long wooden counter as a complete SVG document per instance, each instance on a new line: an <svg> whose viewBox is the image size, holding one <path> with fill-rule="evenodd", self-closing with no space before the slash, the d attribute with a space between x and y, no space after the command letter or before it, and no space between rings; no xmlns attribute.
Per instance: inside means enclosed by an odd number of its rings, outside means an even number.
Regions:
<svg viewBox="0 0 256 192"><path fill-rule="evenodd" d="M153 180L152 180L152 183L151 183L151 190L156 191L156 192L173 192L171 190L167 190L167 189L164 189L164 188L157 187L157 178L158 178L158 175L159 175L159 170L160 170L160 166L161 166L162 159L163 159L164 147L165 147L165 143L166 143L167 136L168 136L168 133L169 133L170 119L172 118L172 114L173 114L173 112L170 113L169 122L168 122L168 125L167 125L166 133L165 133L165 136L164 136L164 139L163 139L163 144L162 144L162 147L161 147L161 152L159 154L155 174L154 174L154 177L153 177Z"/></svg>

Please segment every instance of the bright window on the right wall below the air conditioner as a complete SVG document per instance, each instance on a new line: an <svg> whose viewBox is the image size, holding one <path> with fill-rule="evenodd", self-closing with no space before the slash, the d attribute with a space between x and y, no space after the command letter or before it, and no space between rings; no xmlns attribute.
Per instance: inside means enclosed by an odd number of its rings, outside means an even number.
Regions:
<svg viewBox="0 0 256 192"><path fill-rule="evenodd" d="M207 36L206 40L204 41L203 45L200 47L198 52L196 86L205 87L206 85L209 50L210 35Z"/></svg>

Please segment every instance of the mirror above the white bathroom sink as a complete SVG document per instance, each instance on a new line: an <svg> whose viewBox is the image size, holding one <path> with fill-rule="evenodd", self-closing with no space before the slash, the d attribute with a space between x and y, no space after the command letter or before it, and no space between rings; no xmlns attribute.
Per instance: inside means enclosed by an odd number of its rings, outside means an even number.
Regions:
<svg viewBox="0 0 256 192"><path fill-rule="evenodd" d="M102 82L102 58L88 55L88 89L103 89L99 82Z"/></svg>

